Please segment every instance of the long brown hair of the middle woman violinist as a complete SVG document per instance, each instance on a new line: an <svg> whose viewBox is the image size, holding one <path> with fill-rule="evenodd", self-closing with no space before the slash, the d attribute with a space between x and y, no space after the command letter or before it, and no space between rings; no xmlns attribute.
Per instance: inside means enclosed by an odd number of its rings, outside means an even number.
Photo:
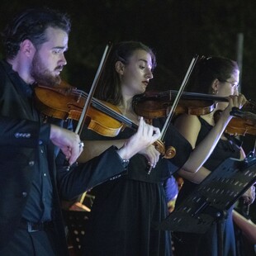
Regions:
<svg viewBox="0 0 256 256"><path fill-rule="evenodd" d="M149 53L152 59L152 69L155 68L156 61L153 51L141 42L122 41L113 45L97 86L97 98L106 102L111 102L114 105L121 103L121 79L119 74L116 72L116 62L121 61L125 65L129 64L130 57L136 50L145 50Z"/></svg>

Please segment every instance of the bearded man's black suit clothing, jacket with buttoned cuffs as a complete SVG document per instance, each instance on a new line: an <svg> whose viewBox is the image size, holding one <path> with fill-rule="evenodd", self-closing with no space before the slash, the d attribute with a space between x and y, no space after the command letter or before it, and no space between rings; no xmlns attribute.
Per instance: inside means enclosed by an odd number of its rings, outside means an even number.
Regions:
<svg viewBox="0 0 256 256"><path fill-rule="evenodd" d="M68 255L68 248L59 195L65 199L77 197L88 188L124 173L125 169L114 147L87 164L71 168L69 172L64 168L64 154L59 153L56 165L57 150L50 142L50 125L41 123L31 90L10 64L0 62L0 254L7 254L7 249L12 249L16 240L29 243L25 236L19 237L22 233L19 228L21 216L32 220L40 216L41 220L48 220L47 213L50 213L55 239L49 239L48 243L57 244L59 252L56 255L64 256ZM68 126L69 122L59 123ZM45 157L40 157L40 149L45 149ZM106 167L107 160L111 164ZM37 175L44 177L46 170L39 170L40 164L48 168L49 179L47 177L47 185L35 193L38 189L36 182L40 181ZM43 199L45 188L50 188L49 192L46 191L48 199L37 208L36 200ZM35 208L38 209L35 216L29 216L29 211ZM16 246L18 244L22 243Z"/></svg>

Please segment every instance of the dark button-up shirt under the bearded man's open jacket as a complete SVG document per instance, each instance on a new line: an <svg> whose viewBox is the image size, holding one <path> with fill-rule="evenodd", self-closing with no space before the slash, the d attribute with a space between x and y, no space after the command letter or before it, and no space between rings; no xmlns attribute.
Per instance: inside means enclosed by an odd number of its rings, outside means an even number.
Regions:
<svg viewBox="0 0 256 256"><path fill-rule="evenodd" d="M31 85L25 83L17 72L13 71L12 66L3 63L7 69L7 73L12 78L12 81L17 85L18 93L24 98L26 102L26 111L30 111L33 121L41 123L40 115L36 111L33 102L33 88ZM40 222L51 220L52 218L52 199L53 188L50 180L50 173L47 161L46 144L50 138L50 125L42 125L40 127L40 140L38 141L39 161L36 161L36 172L31 186L31 191L26 201L26 207L22 213L22 217L32 222Z"/></svg>

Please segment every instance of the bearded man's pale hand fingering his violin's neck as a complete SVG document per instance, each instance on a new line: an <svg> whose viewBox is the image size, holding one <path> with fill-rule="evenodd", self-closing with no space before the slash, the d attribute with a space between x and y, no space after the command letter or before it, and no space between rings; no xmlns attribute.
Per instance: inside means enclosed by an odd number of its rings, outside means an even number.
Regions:
<svg viewBox="0 0 256 256"><path fill-rule="evenodd" d="M132 135L126 143L117 150L122 159L130 159L133 155L152 145L160 136L159 128L145 123L143 117L140 117L139 128L135 135Z"/></svg>

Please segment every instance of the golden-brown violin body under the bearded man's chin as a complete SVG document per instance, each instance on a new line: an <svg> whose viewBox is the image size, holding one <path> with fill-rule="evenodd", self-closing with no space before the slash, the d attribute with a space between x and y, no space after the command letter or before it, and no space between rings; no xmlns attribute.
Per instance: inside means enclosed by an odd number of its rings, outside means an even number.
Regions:
<svg viewBox="0 0 256 256"><path fill-rule="evenodd" d="M38 86L35 88L36 107L46 116L62 120L73 119L78 121L83 111L88 94L68 83L61 83L58 87L48 88ZM102 102L92 98L86 116L88 129L100 135L114 137L124 130L126 126L137 130L138 126L121 111L109 102Z"/></svg>

